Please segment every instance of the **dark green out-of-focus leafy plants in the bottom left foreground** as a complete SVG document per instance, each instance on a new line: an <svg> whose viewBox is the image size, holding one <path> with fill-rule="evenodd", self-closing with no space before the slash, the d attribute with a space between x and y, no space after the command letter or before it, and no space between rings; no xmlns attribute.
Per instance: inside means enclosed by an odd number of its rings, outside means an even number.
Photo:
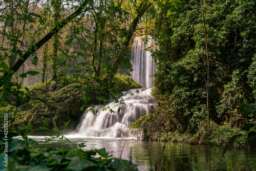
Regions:
<svg viewBox="0 0 256 171"><path fill-rule="evenodd" d="M55 123L54 120L53 123ZM63 140L72 143L63 136L67 126L68 124L65 125L62 132L59 132L56 124L53 131L42 127L43 130L56 135L47 138L46 142L50 143L52 140L59 139L60 143ZM6 154L8 155L8 167L2 164L0 166L1 170L138 170L137 165L131 161L110 158L111 156L105 148L84 151L82 149L84 143L79 144L79 147L72 143L74 147L68 149L60 148L56 150L47 147L37 149L36 146L39 146L39 144L27 136L33 131L31 126L20 126L16 130L17 133L9 132L7 138L8 152L5 152L4 139L6 138L4 138L4 131L0 130L0 149L2 152L0 156L3 159ZM13 138L18 134L22 135L23 140ZM100 157L95 157L96 155Z"/></svg>

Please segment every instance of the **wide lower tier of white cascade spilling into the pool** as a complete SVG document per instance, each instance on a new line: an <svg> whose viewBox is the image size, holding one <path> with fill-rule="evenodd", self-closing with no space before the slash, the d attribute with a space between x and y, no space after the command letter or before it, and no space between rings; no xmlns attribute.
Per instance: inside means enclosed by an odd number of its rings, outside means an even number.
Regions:
<svg viewBox="0 0 256 171"><path fill-rule="evenodd" d="M131 122L153 110L154 98L148 98L151 89L133 89L123 92L118 100L124 100L125 105L109 100L105 107L109 110L102 111L101 105L96 105L99 113L95 116L91 111L84 113L78 125L78 134L86 137L128 137L127 127ZM118 112L118 108L122 108Z"/></svg>

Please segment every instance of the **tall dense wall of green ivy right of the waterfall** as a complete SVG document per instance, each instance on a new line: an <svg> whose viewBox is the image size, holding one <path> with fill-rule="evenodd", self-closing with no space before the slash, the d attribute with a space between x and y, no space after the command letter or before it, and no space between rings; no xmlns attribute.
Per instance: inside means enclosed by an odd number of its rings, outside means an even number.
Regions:
<svg viewBox="0 0 256 171"><path fill-rule="evenodd" d="M195 135L207 118L201 4L187 0L175 6L165 1L157 5L151 30L158 46L156 51L151 49L157 61L153 90L157 106L152 120L140 118L137 125L143 123L142 129L152 136L156 132ZM255 5L250 0L203 1L210 56L210 119L219 130L226 125L236 130L247 122L255 123L254 116L244 117L237 110L243 101L254 102Z"/></svg>

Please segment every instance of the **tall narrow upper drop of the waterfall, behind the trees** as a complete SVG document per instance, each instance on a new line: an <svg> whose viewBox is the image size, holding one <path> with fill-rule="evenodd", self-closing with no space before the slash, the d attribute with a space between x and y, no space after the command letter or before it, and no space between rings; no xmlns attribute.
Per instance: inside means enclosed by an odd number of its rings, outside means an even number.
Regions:
<svg viewBox="0 0 256 171"><path fill-rule="evenodd" d="M131 52L131 64L134 71L131 73L132 78L139 82L144 88L152 88L153 75L156 72L155 61L151 57L150 52L144 51L148 46L153 45L153 40L150 38L147 44L141 37L136 37L134 40L133 49Z"/></svg>

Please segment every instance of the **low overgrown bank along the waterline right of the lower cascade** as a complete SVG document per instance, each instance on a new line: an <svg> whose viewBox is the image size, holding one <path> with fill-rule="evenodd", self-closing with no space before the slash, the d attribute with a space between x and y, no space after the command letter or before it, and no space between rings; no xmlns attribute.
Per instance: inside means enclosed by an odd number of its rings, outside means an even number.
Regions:
<svg viewBox="0 0 256 171"><path fill-rule="evenodd" d="M145 131L145 122L148 121L151 116L140 117L137 121L133 122L129 132L132 136L138 137L139 139L145 139L143 131ZM251 128L250 132L255 131L255 128ZM169 131L164 130L153 132L152 130L147 130L146 139L152 141L167 141L172 143L187 143L187 144L202 144L202 145L215 145L215 146L225 146L229 144L229 147L233 148L245 148L252 149L252 146L248 141L248 132L242 130L239 127L231 127L228 123L224 125L219 125L214 121L210 121L209 128L207 127L207 122L202 121L198 126L198 131L195 134L189 132L181 133L179 131ZM144 132L145 133L145 132ZM239 136L238 136L239 135ZM232 137L237 136L232 142L230 141Z"/></svg>

